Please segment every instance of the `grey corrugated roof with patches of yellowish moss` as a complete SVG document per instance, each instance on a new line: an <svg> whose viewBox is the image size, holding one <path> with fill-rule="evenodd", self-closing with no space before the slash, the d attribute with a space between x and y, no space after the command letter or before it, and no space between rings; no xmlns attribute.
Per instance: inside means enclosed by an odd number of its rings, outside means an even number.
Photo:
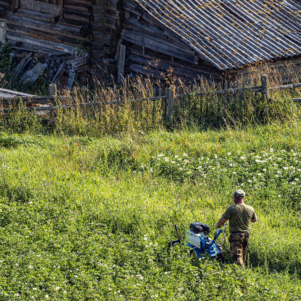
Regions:
<svg viewBox="0 0 301 301"><path fill-rule="evenodd" d="M220 70L301 53L295 0L134 0Z"/></svg>

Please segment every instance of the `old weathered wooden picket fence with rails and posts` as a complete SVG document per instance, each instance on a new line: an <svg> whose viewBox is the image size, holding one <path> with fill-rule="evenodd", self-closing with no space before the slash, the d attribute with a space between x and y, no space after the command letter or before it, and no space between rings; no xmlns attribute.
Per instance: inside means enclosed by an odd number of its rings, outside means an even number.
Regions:
<svg viewBox="0 0 301 301"><path fill-rule="evenodd" d="M227 98L227 103L236 103L243 97L244 93L250 91L251 93L255 94L257 97L258 93L261 93L261 101L268 101L269 99L269 91L273 90L284 90L284 89L294 89L301 87L301 83L290 84L290 85L278 85L274 87L268 86L268 76L262 75L261 76L261 85L256 84L256 79L251 85L251 82L242 82L237 81L234 83L230 82L229 84L225 82L224 87L222 89L221 84L219 83L217 87L210 87L209 91L205 91L202 86L188 86L188 87L174 87L171 86L169 89L165 88L165 90L159 89L156 93L156 90L153 91L146 91L146 97L138 97L138 95L143 95L142 91L134 91L133 93L129 93L127 97L119 94L116 92L115 100L108 101L106 97L98 99L94 96L93 101L89 95L87 95L85 100L82 100L80 103L75 104L71 97L68 96L58 96L57 95L57 88L55 84L49 85L49 95L48 96L33 96L33 95L26 95L23 96L24 93L15 92L15 95L10 95L7 97L3 97L3 93L1 93L1 105L2 109L0 112L8 113L9 111L13 110L14 106L16 106L20 101L25 102L27 104L27 110L36 110L36 112L46 111L52 112L50 115L53 116L55 111L57 110L66 110L66 109L77 109L77 108L86 108L86 112L88 112L88 108L90 107L99 107L99 110L102 110L102 107L106 107L108 105L118 105L118 104L142 104L143 102L147 103L147 110L148 113L152 112L152 116L154 117L156 113L156 102L162 101L162 115L164 120L168 123L172 123L173 113L174 113L174 105L176 99L182 100L182 109L189 107L188 103L185 102L186 98L191 98L193 95L194 97L199 97L199 110L202 112L203 110L203 100L205 97L210 95L217 95L217 105L219 109L222 109L222 97ZM5 89L2 89L5 90ZM5 90L5 92L10 90ZM11 93L14 91L10 91ZM18 94L19 93L19 94ZM18 95L17 95L18 94ZM22 95L23 94L23 95ZM150 95L152 95L150 97ZM225 102L225 99L224 99ZM301 102L301 98L294 98L293 102ZM57 105L60 103L60 105ZM152 105L151 105L152 103ZM9 106L10 108L3 108L3 106ZM137 110L136 106L136 110ZM95 110L94 110L95 112ZM87 113L88 116L88 113ZM94 114L95 118L95 114Z"/></svg>

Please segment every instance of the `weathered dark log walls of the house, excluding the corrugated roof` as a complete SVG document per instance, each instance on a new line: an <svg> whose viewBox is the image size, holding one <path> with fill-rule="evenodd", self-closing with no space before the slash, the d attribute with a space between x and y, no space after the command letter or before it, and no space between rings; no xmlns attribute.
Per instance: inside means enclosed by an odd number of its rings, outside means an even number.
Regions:
<svg viewBox="0 0 301 301"><path fill-rule="evenodd" d="M71 55L80 44L98 77L113 74L119 81L136 74L186 83L248 79L256 72L268 73L278 83L300 77L299 57L222 72L132 0L0 0L0 21L2 42L6 38L20 49Z"/></svg>

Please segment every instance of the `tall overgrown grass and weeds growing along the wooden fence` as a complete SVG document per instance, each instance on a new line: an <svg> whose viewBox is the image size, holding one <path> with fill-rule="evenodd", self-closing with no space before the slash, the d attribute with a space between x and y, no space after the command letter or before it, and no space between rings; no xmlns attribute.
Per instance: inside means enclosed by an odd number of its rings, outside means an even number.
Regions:
<svg viewBox="0 0 301 301"><path fill-rule="evenodd" d="M50 127L41 129L42 119L49 118L49 115L37 117L35 111L27 112L22 103L12 105L14 108L12 111L6 116L0 116L0 127L10 131L15 129L17 132L44 130L92 137L157 129L166 123L164 99L156 101L155 104L152 101L131 102L133 95L140 98L147 98L147 95L153 97L153 88L154 83L151 79L139 77L135 81L124 81L120 89L103 88L99 85L95 90L89 91L85 87L74 87L71 91L62 92L62 95L69 96L76 108L63 109L60 105L64 104L57 101L59 109L55 112L56 119ZM188 93L189 87L183 88L184 92ZM206 129L293 122L300 115L300 105L292 101L292 98L300 97L300 88L274 90L270 93L270 98L264 102L261 93L253 93L250 90L219 97L213 93L216 89L216 86L203 83L185 99L176 98L173 128L197 126ZM198 95L200 91L206 94L200 96ZM101 104L86 109L81 107L81 104L88 96L91 102L98 102L99 99L109 102L122 98L125 104Z"/></svg>

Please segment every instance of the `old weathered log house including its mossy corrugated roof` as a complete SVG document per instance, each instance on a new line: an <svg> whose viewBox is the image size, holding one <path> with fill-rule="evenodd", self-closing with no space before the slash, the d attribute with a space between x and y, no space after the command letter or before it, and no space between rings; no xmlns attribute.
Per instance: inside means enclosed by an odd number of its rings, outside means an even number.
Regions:
<svg viewBox="0 0 301 301"><path fill-rule="evenodd" d="M75 55L118 82L248 77L259 62L299 75L301 6L287 0L0 0L0 40Z"/></svg>

